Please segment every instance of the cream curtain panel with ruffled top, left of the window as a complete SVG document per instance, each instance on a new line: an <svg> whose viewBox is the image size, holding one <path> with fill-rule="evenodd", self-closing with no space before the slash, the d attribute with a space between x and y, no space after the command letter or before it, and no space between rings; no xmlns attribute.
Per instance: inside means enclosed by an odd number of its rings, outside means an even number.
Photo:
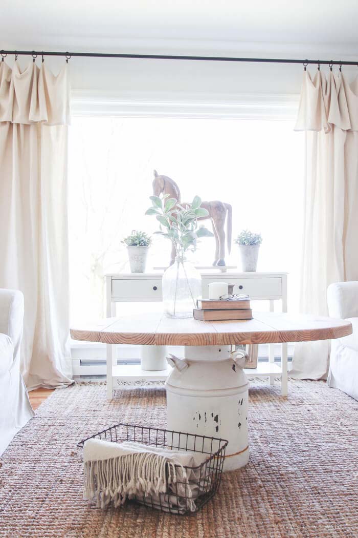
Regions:
<svg viewBox="0 0 358 538"><path fill-rule="evenodd" d="M67 65L0 63L0 288L25 296L21 371L30 390L71 383Z"/></svg>

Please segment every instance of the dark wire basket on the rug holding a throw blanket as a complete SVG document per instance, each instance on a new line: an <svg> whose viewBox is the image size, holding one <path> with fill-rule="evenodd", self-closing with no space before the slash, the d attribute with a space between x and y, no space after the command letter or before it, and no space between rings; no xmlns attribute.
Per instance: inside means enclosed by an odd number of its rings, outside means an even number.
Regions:
<svg viewBox="0 0 358 538"><path fill-rule="evenodd" d="M207 455L203 463L195 467L176 465L177 476L182 476L184 467L185 478L182 480L179 478L176 483L171 483L167 492L156 495L136 495L133 498L136 502L150 508L171 514L193 514L213 497L220 486L228 444L228 441L224 439L134 424L116 424L80 441L77 447L83 448L84 443L89 439L101 439L114 443L132 441L152 447Z"/></svg>

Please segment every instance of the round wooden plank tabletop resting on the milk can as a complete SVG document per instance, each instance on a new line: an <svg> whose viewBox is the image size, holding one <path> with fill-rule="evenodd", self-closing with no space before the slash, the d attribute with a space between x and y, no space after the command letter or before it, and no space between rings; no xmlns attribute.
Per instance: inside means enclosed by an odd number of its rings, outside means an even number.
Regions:
<svg viewBox="0 0 358 538"><path fill-rule="evenodd" d="M352 324L332 317L255 312L252 320L173 319L158 312L112 317L70 330L75 340L106 344L230 345L308 342L352 334Z"/></svg>

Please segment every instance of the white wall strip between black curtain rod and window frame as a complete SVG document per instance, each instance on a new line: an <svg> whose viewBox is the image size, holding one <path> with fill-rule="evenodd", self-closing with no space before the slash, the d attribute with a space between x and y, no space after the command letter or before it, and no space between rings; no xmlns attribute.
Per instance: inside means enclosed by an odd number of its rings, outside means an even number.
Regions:
<svg viewBox="0 0 358 538"><path fill-rule="evenodd" d="M144 93L297 94L302 67L182 60L70 60L72 87Z"/></svg>

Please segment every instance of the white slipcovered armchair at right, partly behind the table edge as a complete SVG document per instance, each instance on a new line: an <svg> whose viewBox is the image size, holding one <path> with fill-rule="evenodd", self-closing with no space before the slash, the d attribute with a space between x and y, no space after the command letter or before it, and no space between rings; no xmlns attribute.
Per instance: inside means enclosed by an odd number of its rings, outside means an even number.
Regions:
<svg viewBox="0 0 358 538"><path fill-rule="evenodd" d="M353 332L332 340L327 383L358 400L358 281L328 286L328 311L352 323Z"/></svg>

